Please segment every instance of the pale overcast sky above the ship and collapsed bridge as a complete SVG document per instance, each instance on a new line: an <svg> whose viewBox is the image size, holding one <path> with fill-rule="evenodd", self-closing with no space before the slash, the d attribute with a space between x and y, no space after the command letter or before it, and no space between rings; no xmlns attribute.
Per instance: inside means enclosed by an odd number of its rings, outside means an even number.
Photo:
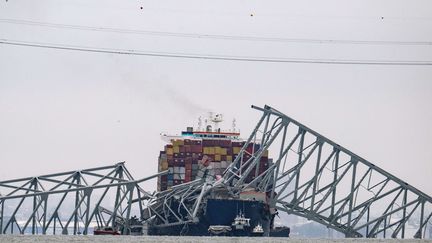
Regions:
<svg viewBox="0 0 432 243"><path fill-rule="evenodd" d="M430 9L432 2L421 0L8 0L0 2L0 39L430 63ZM431 195L431 78L430 65L203 60L0 44L0 180L119 161L143 178L157 171L161 132L179 133L214 111L225 115L227 128L236 118L247 137L260 116L250 105L268 104Z"/></svg>

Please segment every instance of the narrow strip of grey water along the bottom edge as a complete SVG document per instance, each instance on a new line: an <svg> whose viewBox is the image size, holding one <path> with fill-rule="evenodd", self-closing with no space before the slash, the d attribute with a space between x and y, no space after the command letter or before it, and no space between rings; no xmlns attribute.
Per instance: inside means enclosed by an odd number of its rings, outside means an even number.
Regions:
<svg viewBox="0 0 432 243"><path fill-rule="evenodd" d="M160 242L160 243L225 243L225 242L245 242L245 243L408 243L408 242L428 242L432 240L417 240L417 239L292 239L292 238L248 238L248 237L173 237L173 236L68 236L68 235L2 235L0 243L22 242L22 243L42 243L42 242L91 242L91 243L134 243L134 242Z"/></svg>

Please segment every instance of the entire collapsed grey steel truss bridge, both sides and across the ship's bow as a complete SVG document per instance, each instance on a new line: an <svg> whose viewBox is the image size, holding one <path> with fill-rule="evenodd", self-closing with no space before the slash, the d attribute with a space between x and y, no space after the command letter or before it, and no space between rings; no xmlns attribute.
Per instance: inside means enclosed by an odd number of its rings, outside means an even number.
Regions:
<svg viewBox="0 0 432 243"><path fill-rule="evenodd" d="M252 108L262 116L221 178L203 177L151 194L139 184L167 171L135 180L124 163L119 163L2 181L0 234L14 230L21 234L29 230L32 234L55 234L56 227L63 234L70 228L78 234L80 225L82 233L88 234L103 202L112 212L105 224L113 225L116 215L120 215L125 219L125 234L130 234L133 207L142 224L153 230L173 226L180 227L182 233L199 223L209 197L224 194L235 199L253 190L266 195L272 215L298 215L346 237L426 237L432 217L429 195L270 106ZM260 146L248 150L248 144L254 141ZM260 158L270 148L276 156L260 172ZM9 191L4 193L6 189ZM107 192L112 189L115 200L107 202ZM64 212L60 209L68 194L74 207ZM415 227L411 235L407 235L408 226ZM261 227L257 232L269 226Z"/></svg>

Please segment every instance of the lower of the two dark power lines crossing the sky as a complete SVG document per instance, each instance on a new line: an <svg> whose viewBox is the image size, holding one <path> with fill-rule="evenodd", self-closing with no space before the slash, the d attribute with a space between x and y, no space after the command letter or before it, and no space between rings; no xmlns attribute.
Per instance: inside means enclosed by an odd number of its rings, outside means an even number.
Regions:
<svg viewBox="0 0 432 243"><path fill-rule="evenodd" d="M53 43L24 42L16 40L0 39L0 44L25 46L35 48L46 48L66 51L81 51L92 53L109 53L119 55L204 59L221 61L243 61L243 62L268 62L268 63L306 63L306 64L357 64L357 65L400 65L400 66L430 66L432 61L389 61L389 60L348 60L348 59L307 59L307 58L278 58L278 57L251 57L251 56L223 56L195 53L174 52L147 52L133 49L112 49L85 46L72 46Z"/></svg>

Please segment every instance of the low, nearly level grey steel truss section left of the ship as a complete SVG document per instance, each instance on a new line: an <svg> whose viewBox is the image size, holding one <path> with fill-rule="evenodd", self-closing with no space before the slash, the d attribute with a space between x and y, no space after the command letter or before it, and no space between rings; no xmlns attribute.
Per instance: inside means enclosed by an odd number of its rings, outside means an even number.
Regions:
<svg viewBox="0 0 432 243"><path fill-rule="evenodd" d="M0 182L0 234L88 234L93 226L130 232L136 198L150 198L124 162ZM136 209L134 209L134 207Z"/></svg>

